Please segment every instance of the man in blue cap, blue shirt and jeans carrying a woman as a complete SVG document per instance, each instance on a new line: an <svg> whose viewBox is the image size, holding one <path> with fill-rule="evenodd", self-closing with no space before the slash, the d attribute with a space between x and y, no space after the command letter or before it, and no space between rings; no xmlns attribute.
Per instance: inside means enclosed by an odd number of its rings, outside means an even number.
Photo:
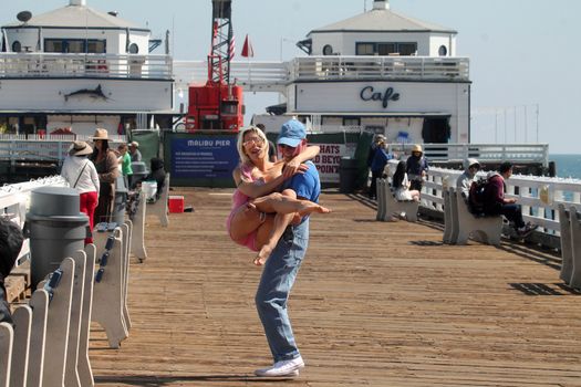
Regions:
<svg viewBox="0 0 581 387"><path fill-rule="evenodd" d="M284 123L277 144L286 161L290 161L307 147L304 125L297 119ZM309 169L294 175L284 182L282 189L298 199L319 201L321 182L312 161L305 163ZM287 312L289 293L301 266L309 244L309 217L297 226L289 226L277 247L267 260L256 294L258 315L264 327L270 352L274 359L271 367L257 369L257 376L297 376L304 362L294 342Z"/></svg>

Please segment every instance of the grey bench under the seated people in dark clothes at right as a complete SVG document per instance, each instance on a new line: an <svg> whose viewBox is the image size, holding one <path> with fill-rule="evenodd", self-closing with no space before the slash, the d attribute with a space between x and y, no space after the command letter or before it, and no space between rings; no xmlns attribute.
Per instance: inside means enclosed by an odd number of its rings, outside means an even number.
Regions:
<svg viewBox="0 0 581 387"><path fill-rule="evenodd" d="M466 244L468 238L487 244L500 245L502 217L476 217L468 211L461 190L448 188L452 208L449 243Z"/></svg>

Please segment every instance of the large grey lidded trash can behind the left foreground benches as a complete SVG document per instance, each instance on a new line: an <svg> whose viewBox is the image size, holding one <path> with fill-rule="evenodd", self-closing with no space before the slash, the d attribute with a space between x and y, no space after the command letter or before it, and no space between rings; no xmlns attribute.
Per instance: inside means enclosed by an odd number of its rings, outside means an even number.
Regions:
<svg viewBox="0 0 581 387"><path fill-rule="evenodd" d="M80 212L80 201L76 190L68 187L40 187L30 192L27 233L33 290L63 259L84 249L89 217Z"/></svg>

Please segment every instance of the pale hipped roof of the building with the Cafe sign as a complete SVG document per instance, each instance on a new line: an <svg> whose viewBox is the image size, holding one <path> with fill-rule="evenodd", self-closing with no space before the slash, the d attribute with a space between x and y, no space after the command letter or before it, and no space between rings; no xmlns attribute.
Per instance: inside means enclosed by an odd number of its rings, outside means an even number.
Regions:
<svg viewBox="0 0 581 387"><path fill-rule="evenodd" d="M457 31L434 23L393 12L390 9L372 9L353 18L329 24L309 32L444 32Z"/></svg>

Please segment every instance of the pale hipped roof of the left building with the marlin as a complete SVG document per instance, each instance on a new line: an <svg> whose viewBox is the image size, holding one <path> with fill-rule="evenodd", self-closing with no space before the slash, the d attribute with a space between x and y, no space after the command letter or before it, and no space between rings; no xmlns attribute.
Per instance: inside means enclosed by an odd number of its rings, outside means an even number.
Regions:
<svg viewBox="0 0 581 387"><path fill-rule="evenodd" d="M101 29L138 29L146 30L127 20L96 11L86 6L66 6L53 11L33 15L28 22L14 22L3 25L15 27L43 27L43 28L101 28Z"/></svg>

